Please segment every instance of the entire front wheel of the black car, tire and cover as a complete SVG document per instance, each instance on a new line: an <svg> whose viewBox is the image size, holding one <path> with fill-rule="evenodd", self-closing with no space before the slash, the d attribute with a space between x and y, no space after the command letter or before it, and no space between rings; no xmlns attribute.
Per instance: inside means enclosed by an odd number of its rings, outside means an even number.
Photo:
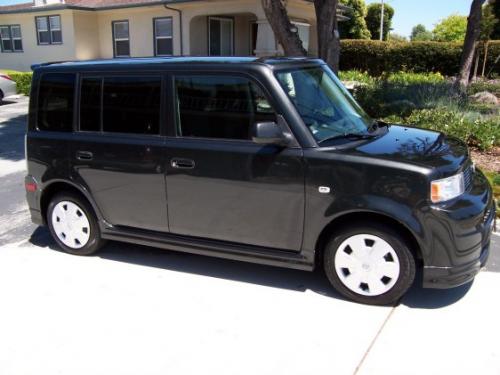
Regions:
<svg viewBox="0 0 500 375"><path fill-rule="evenodd" d="M372 305L397 303L415 278L415 259L406 241L376 224L347 227L332 236L324 267L341 294Z"/></svg>

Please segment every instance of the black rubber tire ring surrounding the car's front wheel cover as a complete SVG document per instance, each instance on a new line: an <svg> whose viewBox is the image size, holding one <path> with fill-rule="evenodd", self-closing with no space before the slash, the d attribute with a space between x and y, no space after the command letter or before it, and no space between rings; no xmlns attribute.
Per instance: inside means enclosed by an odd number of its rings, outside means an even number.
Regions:
<svg viewBox="0 0 500 375"><path fill-rule="evenodd" d="M337 252L340 251L340 246L348 238L358 234L368 234L380 237L392 247L398 257L399 276L397 281L393 284L391 289L383 294L366 296L361 293L355 293L342 282L337 274L335 256ZM330 241L326 245L323 265L328 280L339 293L355 302L369 305L397 304L401 297L412 286L415 279L415 258L407 242L391 227L382 224L360 223L358 225L345 226L339 229L332 235ZM349 274L349 271L347 271L347 274Z"/></svg>

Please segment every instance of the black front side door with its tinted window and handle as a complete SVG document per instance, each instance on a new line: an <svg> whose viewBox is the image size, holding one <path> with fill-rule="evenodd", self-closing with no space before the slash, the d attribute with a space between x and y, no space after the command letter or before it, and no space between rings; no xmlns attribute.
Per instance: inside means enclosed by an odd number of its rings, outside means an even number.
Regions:
<svg viewBox="0 0 500 375"><path fill-rule="evenodd" d="M299 251L302 150L251 141L276 121L262 89L241 76L174 77L176 138L167 139L172 233Z"/></svg>

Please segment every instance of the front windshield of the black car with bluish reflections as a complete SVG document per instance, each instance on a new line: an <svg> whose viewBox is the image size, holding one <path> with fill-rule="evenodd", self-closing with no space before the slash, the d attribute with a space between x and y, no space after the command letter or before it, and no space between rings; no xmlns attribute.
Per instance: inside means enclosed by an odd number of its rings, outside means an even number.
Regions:
<svg viewBox="0 0 500 375"><path fill-rule="evenodd" d="M328 66L278 71L276 76L318 143L368 134L373 120Z"/></svg>

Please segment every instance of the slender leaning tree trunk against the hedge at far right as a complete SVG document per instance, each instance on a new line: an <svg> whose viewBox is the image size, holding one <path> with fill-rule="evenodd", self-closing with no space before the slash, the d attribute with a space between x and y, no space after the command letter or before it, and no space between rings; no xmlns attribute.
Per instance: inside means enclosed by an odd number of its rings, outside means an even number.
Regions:
<svg viewBox="0 0 500 375"><path fill-rule="evenodd" d="M476 41L481 32L482 5L485 0L473 0L470 7L469 19L467 22L467 33L465 34L464 48L460 59L460 72L455 81L455 85L465 91L469 85L470 71L474 60Z"/></svg>

